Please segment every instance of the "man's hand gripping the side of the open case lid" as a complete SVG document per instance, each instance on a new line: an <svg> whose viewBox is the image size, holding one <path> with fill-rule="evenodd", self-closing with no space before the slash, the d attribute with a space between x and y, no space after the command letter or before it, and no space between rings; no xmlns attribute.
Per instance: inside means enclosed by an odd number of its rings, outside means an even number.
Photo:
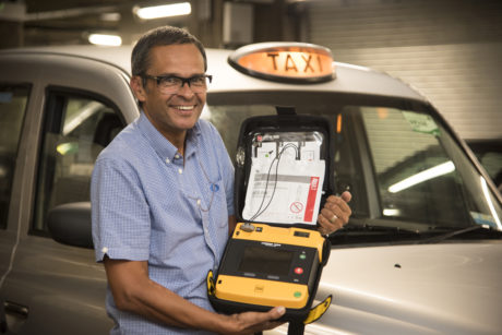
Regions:
<svg viewBox="0 0 502 335"><path fill-rule="evenodd" d="M347 204L350 199L352 195L348 191L342 193L340 196L330 195L327 198L318 217L321 234L330 235L348 223L348 218L352 214Z"/></svg>

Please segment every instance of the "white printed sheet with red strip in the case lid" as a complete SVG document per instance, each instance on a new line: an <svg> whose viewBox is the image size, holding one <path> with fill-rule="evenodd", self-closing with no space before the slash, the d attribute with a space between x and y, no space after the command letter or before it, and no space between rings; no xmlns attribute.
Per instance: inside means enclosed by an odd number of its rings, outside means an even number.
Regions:
<svg viewBox="0 0 502 335"><path fill-rule="evenodd" d="M261 223L315 225L325 161L304 158L253 158L242 217Z"/></svg>

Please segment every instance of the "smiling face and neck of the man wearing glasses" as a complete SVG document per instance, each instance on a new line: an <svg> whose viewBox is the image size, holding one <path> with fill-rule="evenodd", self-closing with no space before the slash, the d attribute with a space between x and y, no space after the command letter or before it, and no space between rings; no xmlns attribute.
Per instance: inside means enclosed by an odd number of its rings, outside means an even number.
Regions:
<svg viewBox="0 0 502 335"><path fill-rule="evenodd" d="M211 79L204 58L194 44L156 46L148 64L131 87L150 122L183 155L187 131L201 116Z"/></svg>

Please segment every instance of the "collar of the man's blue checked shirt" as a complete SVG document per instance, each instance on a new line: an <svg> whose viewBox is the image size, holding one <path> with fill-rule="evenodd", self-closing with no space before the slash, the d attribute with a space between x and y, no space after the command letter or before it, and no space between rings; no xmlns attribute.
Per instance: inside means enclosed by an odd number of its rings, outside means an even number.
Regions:
<svg viewBox="0 0 502 335"><path fill-rule="evenodd" d="M201 125L199 122L200 120L198 120L195 125L187 132L187 141L184 144L186 158L195 153L198 137L201 135ZM141 111L138 120L138 128L163 160L167 158L172 161L175 159L178 148L164 137L164 135L152 124L152 122L150 122L143 110Z"/></svg>

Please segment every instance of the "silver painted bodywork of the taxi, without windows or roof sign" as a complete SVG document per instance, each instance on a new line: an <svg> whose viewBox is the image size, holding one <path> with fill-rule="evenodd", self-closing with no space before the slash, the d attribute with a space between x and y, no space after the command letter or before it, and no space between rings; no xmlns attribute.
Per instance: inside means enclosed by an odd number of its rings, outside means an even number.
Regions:
<svg viewBox="0 0 502 335"><path fill-rule="evenodd" d="M31 225L47 92L63 88L106 97L130 123L139 116L128 84L130 52L131 47L83 46L0 52L0 82L32 85L8 225L0 230L0 300L11 310L27 309L26 318L8 313L15 334L101 334L112 325L104 307L105 272L95 263L94 252L33 235ZM212 95L261 91L340 93L429 105L410 86L366 68L336 63L334 81L287 84L236 71L227 61L230 52L207 49L207 72L214 75L208 101ZM454 139L473 158L465 143ZM357 145L367 153L360 140ZM374 183L371 158L362 160L367 165L363 178ZM473 165L486 176L476 160ZM494 190L493 184L490 188ZM380 206L376 191L370 189L368 198L373 217ZM333 295L333 304L321 320L307 326L306 334L498 334L502 328L501 268L500 240L337 247L316 296L322 300ZM268 333L285 334L285 328Z"/></svg>

